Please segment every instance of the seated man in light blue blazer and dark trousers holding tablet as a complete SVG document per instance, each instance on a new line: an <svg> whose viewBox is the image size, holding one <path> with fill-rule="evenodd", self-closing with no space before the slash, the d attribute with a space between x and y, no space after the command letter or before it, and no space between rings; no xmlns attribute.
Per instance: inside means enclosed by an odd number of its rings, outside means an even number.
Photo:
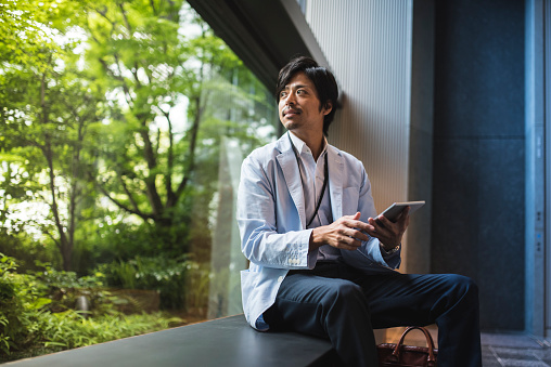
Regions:
<svg viewBox="0 0 551 367"><path fill-rule="evenodd" d="M329 338L347 366L376 366L374 328L438 325L438 366L480 366L478 296L459 275L406 275L408 209L376 218L362 163L325 136L338 90L308 57L279 75L289 130L242 166L238 223L243 307L255 329ZM377 221L375 221L375 219Z"/></svg>

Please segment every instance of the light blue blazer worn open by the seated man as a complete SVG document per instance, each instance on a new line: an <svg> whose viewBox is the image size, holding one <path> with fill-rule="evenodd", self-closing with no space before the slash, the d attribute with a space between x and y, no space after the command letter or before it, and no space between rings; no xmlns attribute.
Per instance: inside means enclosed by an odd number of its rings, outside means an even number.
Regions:
<svg viewBox="0 0 551 367"><path fill-rule="evenodd" d="M328 146L329 192L332 215L361 212L360 220L375 217L375 207L363 165L351 155ZM276 301L290 270L313 268L318 251L308 253L311 230L306 230L304 194L296 157L284 134L255 149L241 168L238 193L241 249L249 268L241 272L243 310L255 329ZM400 251L383 259L379 239L372 237L356 251L342 250L345 262L367 273L392 272Z"/></svg>

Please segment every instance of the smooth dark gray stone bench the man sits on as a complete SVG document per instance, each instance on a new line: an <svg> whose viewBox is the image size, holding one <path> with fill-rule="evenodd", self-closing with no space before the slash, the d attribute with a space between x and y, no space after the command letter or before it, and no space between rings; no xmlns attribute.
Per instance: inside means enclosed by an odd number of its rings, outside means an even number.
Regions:
<svg viewBox="0 0 551 367"><path fill-rule="evenodd" d="M15 361L14 367L271 367L331 366L328 340L295 332L258 332L243 315L187 325L71 351Z"/></svg>

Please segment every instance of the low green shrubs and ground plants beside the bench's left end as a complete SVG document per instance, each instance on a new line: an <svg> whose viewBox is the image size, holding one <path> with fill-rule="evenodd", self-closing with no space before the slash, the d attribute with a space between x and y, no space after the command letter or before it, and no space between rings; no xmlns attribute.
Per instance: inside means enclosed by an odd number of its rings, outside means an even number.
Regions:
<svg viewBox="0 0 551 367"><path fill-rule="evenodd" d="M13 258L0 254L0 363L166 329L181 319L164 313L124 315L118 298L97 287L103 276L78 278L49 266L36 274L16 273ZM72 309L86 293L94 310L85 317ZM54 312L59 311L59 312Z"/></svg>

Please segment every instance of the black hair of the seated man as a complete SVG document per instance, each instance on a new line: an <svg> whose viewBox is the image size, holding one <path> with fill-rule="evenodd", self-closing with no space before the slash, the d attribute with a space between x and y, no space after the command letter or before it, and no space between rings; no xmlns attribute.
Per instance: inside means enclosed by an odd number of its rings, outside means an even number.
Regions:
<svg viewBox="0 0 551 367"><path fill-rule="evenodd" d="M282 91L285 90L290 81L299 73L304 73L312 82L317 97L320 101L319 110L323 108L330 109L329 114L323 118L323 133L326 135L329 126L335 116L338 87L333 74L326 68L319 66L316 61L305 56L296 57L290 61L289 64L280 70L276 89L278 103L280 102Z"/></svg>

